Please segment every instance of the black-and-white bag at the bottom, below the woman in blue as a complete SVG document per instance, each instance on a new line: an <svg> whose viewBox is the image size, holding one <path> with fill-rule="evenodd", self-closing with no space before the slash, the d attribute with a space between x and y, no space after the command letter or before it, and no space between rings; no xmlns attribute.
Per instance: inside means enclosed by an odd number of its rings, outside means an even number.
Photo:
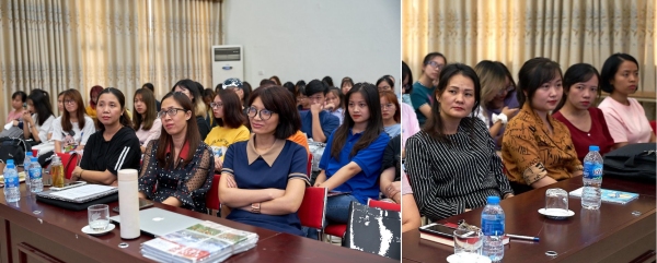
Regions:
<svg viewBox="0 0 657 263"><path fill-rule="evenodd" d="M380 223L379 223L380 222ZM400 260L402 258L402 213L351 202L344 246ZM376 240L376 242L372 242ZM383 251L383 249L385 249Z"/></svg>

